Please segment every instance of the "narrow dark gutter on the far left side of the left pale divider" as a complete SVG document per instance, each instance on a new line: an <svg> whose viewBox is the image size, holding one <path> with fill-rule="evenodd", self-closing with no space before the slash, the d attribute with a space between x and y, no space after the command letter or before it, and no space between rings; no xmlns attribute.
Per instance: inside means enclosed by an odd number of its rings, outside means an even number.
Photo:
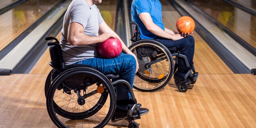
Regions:
<svg viewBox="0 0 256 128"><path fill-rule="evenodd" d="M27 28L24 32L22 32L16 39L11 41L5 48L0 51L0 60L4 58L13 48L15 48L22 39L24 39L29 33L34 30L39 24L41 24L55 9L59 7L65 0L61 0L58 4L56 4L52 9L47 11L42 17L40 17L36 22L31 24L29 28Z"/></svg>

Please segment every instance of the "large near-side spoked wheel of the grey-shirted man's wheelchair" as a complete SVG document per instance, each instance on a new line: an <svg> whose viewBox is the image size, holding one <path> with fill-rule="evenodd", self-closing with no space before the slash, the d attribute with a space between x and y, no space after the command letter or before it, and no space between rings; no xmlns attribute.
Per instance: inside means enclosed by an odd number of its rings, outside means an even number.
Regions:
<svg viewBox="0 0 256 128"><path fill-rule="evenodd" d="M104 93L97 93L95 84L70 87L71 95L57 89L67 78L80 74L93 77L103 83ZM79 99L84 99L81 100L84 103L81 104ZM49 116L54 124L61 128L77 126L101 128L112 117L116 104L115 91L111 82L106 76L90 67L74 67L58 75L49 87L46 101Z"/></svg>

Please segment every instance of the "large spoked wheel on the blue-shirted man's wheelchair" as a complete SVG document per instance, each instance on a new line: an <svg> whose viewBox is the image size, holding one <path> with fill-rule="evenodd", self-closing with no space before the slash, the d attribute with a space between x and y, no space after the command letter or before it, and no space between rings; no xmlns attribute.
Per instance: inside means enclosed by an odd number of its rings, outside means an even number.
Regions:
<svg viewBox="0 0 256 128"><path fill-rule="evenodd" d="M153 92L168 84L174 72L173 57L168 48L158 41L143 39L133 43L129 49L139 62L133 86L135 89Z"/></svg>

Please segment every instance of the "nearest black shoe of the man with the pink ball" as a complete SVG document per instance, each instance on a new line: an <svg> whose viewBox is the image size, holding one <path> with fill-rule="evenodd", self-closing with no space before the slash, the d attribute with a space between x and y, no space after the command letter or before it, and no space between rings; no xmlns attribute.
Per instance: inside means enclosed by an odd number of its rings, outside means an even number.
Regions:
<svg viewBox="0 0 256 128"><path fill-rule="evenodd" d="M149 111L148 108L139 108L140 115L145 115L146 113L148 113L148 111ZM128 114L128 110L116 108L115 113L114 113L113 117L111 118L111 122L116 122L121 119L127 119L128 118L127 114ZM138 117L138 113L136 110L132 112L132 116Z"/></svg>

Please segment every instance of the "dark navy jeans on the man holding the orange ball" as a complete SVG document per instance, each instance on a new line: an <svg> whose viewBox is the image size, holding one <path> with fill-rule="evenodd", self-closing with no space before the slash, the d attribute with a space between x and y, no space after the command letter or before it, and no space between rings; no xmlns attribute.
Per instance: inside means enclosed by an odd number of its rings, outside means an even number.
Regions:
<svg viewBox="0 0 256 128"><path fill-rule="evenodd" d="M188 36L177 41L165 39L162 37L156 37L155 40L164 44L164 46L166 46L167 48L176 47L178 50L180 50L181 54L184 54L187 57L190 67L187 68L185 66L183 59L178 59L179 63L176 75L184 76L186 71L191 70L191 66L193 65L193 56L195 52L195 40L192 36Z"/></svg>

